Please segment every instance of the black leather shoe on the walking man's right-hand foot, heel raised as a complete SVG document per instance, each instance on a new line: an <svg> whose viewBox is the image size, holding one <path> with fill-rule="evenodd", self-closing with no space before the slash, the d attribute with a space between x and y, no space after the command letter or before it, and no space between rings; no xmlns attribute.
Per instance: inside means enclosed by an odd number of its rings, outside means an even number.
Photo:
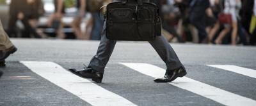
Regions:
<svg viewBox="0 0 256 106"><path fill-rule="evenodd" d="M184 67L180 67L175 70L166 70L164 77L154 79L156 83L170 83L177 79L177 77L184 77L186 76L187 72Z"/></svg>

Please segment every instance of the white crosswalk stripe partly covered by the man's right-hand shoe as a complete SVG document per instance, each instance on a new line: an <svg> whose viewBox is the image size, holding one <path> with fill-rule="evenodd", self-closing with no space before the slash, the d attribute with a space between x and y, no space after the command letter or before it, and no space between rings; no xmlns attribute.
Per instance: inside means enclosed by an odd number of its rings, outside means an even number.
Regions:
<svg viewBox="0 0 256 106"><path fill-rule="evenodd" d="M160 67L150 65L147 63L121 63L131 69L134 69L142 74L151 77L159 77L165 74L165 70ZM216 88L214 86L210 86L205 83L201 83L199 81L195 81L188 77L179 77L172 84L173 86L177 86L178 88L185 89L187 91L191 91L198 95L204 96L216 102L219 102L223 105L243 105L243 106L255 106L256 101L251 98L246 98L244 96L236 95L234 93L230 93L220 88Z"/></svg>

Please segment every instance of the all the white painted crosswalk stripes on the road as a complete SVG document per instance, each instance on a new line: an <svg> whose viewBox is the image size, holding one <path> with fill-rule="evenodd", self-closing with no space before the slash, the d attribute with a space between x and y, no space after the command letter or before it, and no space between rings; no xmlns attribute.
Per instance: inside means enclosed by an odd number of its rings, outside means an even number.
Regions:
<svg viewBox="0 0 256 106"><path fill-rule="evenodd" d="M24 64L26 67L28 67L28 69L35 72L39 76L44 77L44 79L51 81L51 83L54 83L60 88L78 96L91 105L138 105L127 98L109 91L108 89L102 88L98 84L71 74L57 63L28 61L23 61L20 63ZM150 77L162 77L165 73L164 69L148 63L120 63L120 65L129 67L132 70ZM256 78L256 70L253 69L246 69L244 67L238 67L235 65L206 66ZM168 84L191 93L195 93L196 95L203 96L204 98L208 98L223 105L256 105L256 100L253 100L252 98L237 95L230 91L196 81L195 79L191 79L189 77L178 78L173 81L173 83Z"/></svg>

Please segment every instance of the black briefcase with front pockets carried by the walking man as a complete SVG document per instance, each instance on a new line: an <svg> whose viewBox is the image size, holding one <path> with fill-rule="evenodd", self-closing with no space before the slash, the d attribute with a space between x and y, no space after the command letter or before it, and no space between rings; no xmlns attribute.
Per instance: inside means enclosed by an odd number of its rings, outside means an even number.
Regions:
<svg viewBox="0 0 256 106"><path fill-rule="evenodd" d="M141 0L109 3L106 36L118 41L153 41L161 36L159 8Z"/></svg>

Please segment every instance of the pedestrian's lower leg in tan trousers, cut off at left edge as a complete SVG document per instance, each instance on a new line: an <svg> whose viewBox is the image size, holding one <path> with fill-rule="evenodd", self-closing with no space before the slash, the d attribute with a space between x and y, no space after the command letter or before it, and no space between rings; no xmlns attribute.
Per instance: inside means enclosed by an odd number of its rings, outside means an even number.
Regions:
<svg viewBox="0 0 256 106"><path fill-rule="evenodd" d="M5 59L9 55L15 53L17 48L12 44L6 32L4 32L3 25L0 20L0 67L5 66Z"/></svg>

